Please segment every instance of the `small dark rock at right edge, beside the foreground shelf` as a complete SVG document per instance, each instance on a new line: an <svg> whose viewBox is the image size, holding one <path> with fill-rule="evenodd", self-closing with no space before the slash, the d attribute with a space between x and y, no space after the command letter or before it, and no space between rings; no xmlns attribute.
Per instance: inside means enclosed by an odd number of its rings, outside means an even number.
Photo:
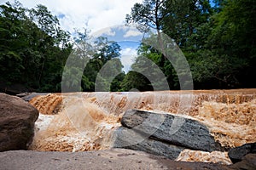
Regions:
<svg viewBox="0 0 256 170"><path fill-rule="evenodd" d="M233 163L241 161L247 154L256 154L256 143L243 144L229 151L230 160Z"/></svg>

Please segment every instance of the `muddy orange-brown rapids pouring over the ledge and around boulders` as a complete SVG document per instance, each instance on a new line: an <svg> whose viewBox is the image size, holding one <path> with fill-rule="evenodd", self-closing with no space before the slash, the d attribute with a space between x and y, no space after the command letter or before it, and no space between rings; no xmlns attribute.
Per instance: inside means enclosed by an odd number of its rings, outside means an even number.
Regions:
<svg viewBox="0 0 256 170"><path fill-rule="evenodd" d="M223 146L256 142L256 89L48 94L30 103L40 111L31 150L108 149L128 109L192 116ZM177 160L231 163L226 152L195 150L183 150Z"/></svg>

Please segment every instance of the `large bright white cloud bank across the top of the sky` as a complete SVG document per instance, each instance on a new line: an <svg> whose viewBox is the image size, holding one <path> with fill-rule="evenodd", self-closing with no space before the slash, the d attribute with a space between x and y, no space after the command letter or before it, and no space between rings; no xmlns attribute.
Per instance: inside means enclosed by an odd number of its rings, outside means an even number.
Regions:
<svg viewBox="0 0 256 170"><path fill-rule="evenodd" d="M86 27L94 32L109 26L122 25L125 23L125 14L131 13L135 3L142 2L143 0L20 0L26 8L35 8L41 3L49 8L52 14L65 14L65 17L60 19L61 27L71 32L73 28Z"/></svg>

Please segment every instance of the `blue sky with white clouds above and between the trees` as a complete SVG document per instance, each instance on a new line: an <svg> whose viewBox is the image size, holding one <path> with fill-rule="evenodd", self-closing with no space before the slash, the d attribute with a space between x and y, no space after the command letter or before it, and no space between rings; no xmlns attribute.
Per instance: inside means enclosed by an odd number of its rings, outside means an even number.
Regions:
<svg viewBox="0 0 256 170"><path fill-rule="evenodd" d="M6 3L3 0L0 4ZM14 3L14 0L9 0ZM135 28L126 28L125 15L131 13L135 3L143 0L19 0L26 8L43 4L60 20L61 28L73 33L74 28L87 28L94 36L105 36L119 42L121 61L128 71L137 56L137 46L142 34ZM131 44L131 46L129 46Z"/></svg>

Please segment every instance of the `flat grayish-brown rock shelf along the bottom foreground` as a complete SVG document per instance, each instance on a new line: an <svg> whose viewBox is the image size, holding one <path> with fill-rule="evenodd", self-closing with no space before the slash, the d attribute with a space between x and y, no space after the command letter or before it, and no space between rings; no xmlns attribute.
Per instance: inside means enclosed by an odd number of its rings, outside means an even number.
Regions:
<svg viewBox="0 0 256 170"><path fill-rule="evenodd" d="M88 152L38 152L15 150L0 152L1 169L161 169L161 170L253 170L256 155L249 154L242 161L224 166L204 162L172 161L160 156L154 156L136 150L97 150ZM254 168L255 169L255 168Z"/></svg>

